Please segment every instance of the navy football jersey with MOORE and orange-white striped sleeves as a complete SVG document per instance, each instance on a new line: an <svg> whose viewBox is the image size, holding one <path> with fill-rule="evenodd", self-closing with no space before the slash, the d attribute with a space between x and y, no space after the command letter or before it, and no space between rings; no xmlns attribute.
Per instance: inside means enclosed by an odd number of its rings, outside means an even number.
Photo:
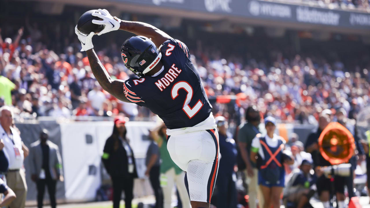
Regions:
<svg viewBox="0 0 370 208"><path fill-rule="evenodd" d="M169 129L192 127L206 120L212 105L198 71L189 59L188 47L179 40L168 39L159 50L164 70L154 77L126 80L124 93L127 99L149 108Z"/></svg>

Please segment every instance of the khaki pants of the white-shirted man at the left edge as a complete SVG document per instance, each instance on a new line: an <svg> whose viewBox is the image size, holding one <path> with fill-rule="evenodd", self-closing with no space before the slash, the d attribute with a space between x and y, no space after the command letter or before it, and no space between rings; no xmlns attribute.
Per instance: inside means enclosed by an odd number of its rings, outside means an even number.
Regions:
<svg viewBox="0 0 370 208"><path fill-rule="evenodd" d="M24 208L27 196L26 173L20 171L9 171L6 174L6 182L10 189L14 191L16 197L9 205L10 208Z"/></svg>

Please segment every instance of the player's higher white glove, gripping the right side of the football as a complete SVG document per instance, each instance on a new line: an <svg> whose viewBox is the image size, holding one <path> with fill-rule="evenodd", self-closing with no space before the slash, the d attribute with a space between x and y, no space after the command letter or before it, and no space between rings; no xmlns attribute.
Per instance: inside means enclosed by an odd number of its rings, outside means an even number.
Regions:
<svg viewBox="0 0 370 208"><path fill-rule="evenodd" d="M98 36L104 33L108 33L110 31L118 30L120 28L121 20L117 17L112 17L112 15L106 9L98 9L100 13L92 13L92 16L99 17L103 20L92 20L94 24L102 24L104 25L104 29L100 31Z"/></svg>

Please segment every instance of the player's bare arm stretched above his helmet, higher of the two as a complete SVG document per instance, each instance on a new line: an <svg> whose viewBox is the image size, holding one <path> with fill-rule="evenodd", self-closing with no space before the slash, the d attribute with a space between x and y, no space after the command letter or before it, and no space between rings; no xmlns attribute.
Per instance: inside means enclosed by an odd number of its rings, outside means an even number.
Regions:
<svg viewBox="0 0 370 208"><path fill-rule="evenodd" d="M164 41L171 38L171 36L166 34L164 31L159 30L157 27L142 22L121 20L120 30L125 30L138 36L151 38L157 47L164 43Z"/></svg>

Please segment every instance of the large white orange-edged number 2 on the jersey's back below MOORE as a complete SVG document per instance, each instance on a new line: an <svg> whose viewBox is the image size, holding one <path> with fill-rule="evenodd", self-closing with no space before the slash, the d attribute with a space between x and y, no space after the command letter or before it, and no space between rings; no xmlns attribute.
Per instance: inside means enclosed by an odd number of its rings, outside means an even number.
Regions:
<svg viewBox="0 0 370 208"><path fill-rule="evenodd" d="M182 110L185 112L186 115L188 115L189 118L192 118L196 113L198 113L199 110L203 107L203 103L201 100L198 100L196 104L191 108L189 103L191 99L193 98L193 88L190 86L189 83L186 81L179 81L172 87L171 90L171 96L172 99L175 100L175 98L179 95L179 90L184 89L188 94L186 94L186 99L184 101L184 106L182 107Z"/></svg>

